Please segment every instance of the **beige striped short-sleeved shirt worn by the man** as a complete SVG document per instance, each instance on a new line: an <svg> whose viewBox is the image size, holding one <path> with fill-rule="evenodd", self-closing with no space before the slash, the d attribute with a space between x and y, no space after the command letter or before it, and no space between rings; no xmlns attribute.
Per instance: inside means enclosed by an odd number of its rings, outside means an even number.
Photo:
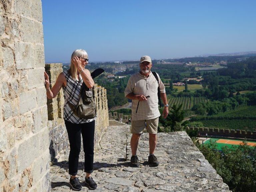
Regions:
<svg viewBox="0 0 256 192"><path fill-rule="evenodd" d="M157 76L159 79L160 93L165 93L164 84L158 74ZM155 119L161 115L158 110L157 88L158 82L151 72L148 77L136 73L129 78L124 91L125 96L129 93L150 96L146 101L139 102L139 100L132 100L132 120ZM139 107L136 113L138 102Z"/></svg>

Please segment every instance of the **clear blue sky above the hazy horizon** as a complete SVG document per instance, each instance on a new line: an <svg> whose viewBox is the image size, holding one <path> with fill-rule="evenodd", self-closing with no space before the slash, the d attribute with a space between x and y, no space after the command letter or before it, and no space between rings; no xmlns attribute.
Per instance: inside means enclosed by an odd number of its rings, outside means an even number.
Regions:
<svg viewBox="0 0 256 192"><path fill-rule="evenodd" d="M255 0L42 0L46 62L256 51Z"/></svg>

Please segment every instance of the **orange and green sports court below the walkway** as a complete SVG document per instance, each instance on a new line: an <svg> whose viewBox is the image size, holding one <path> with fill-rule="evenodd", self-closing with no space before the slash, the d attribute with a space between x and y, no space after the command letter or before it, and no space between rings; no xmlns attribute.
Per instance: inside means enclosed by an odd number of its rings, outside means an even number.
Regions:
<svg viewBox="0 0 256 192"><path fill-rule="evenodd" d="M229 148L232 148L234 145L240 145L243 144L242 140L233 140L233 139L219 139L219 138L210 138L204 143L210 143L210 141L214 141L217 144L218 149L221 150L222 146L227 146ZM247 144L249 146L256 145L256 142L253 141L247 141Z"/></svg>

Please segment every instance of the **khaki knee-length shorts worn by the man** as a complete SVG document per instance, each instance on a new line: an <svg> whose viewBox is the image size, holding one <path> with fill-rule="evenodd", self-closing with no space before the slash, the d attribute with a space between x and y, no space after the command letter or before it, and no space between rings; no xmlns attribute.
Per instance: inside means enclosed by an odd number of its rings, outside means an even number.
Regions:
<svg viewBox="0 0 256 192"><path fill-rule="evenodd" d="M145 128L145 123L147 123L146 129L148 133L156 134L158 127L159 118L148 119L148 120L138 120L132 121L131 133L142 134Z"/></svg>

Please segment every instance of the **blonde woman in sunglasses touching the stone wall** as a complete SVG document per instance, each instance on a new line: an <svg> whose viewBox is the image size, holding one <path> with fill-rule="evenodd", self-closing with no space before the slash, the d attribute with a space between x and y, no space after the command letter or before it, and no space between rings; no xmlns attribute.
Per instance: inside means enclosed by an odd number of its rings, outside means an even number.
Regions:
<svg viewBox="0 0 256 192"><path fill-rule="evenodd" d="M88 64L88 54L85 50L77 49L72 53L70 68L67 72L59 74L56 83L50 89L49 77L45 72L45 85L47 98L56 97L61 88L64 90L64 121L68 132L70 152L69 152L69 174L70 185L74 190L81 190L82 186L77 177L78 158L81 148L81 134L83 137L83 148L85 153L84 171L86 172L85 183L90 189L96 189L97 184L93 181L91 173L93 172L93 156L94 156L94 128L95 118L82 119L77 117L68 102L76 105L79 98L80 89L84 82L88 88L92 88L94 81L90 75L90 71L85 69Z"/></svg>

